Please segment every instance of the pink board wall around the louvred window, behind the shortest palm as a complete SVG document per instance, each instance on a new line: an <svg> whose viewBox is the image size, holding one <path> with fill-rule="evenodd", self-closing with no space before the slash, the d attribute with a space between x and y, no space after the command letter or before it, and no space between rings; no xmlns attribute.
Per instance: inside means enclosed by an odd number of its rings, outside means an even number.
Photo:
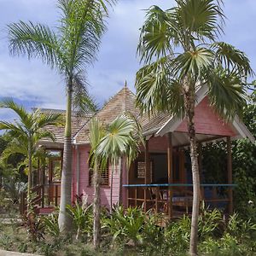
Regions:
<svg viewBox="0 0 256 256"><path fill-rule="evenodd" d="M91 203L94 197L94 189L92 186L89 186L89 158L90 146L80 146L79 147L79 166L80 166L80 179L79 179L79 191L77 191L77 171L76 171L76 162L77 162L77 150L73 149L73 198L76 194L84 194L88 196L88 202ZM123 166L122 166L123 167ZM125 177L125 174L123 175ZM111 166L109 170L109 185L111 183ZM79 192L79 193L78 193ZM110 205L110 186L101 187L101 198L102 206L109 207ZM113 170L113 204L116 204L119 201L119 166L114 166Z"/></svg>

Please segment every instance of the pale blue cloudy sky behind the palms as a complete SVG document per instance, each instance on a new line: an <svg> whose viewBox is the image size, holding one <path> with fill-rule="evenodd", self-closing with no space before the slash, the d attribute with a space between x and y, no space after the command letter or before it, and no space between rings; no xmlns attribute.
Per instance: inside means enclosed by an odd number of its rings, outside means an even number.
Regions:
<svg viewBox="0 0 256 256"><path fill-rule="evenodd" d="M118 92L127 80L135 91L135 74L139 61L136 55L139 28L145 9L159 5L174 6L174 0L119 0L110 12L108 32L102 38L97 61L87 71L90 94L101 106ZM40 60L9 55L6 25L19 20L40 22L54 27L59 13L56 0L0 0L0 98L13 97L26 108L65 108L63 78ZM227 17L221 38L245 51L256 71L256 1L224 0ZM13 119L8 110L0 109L0 119Z"/></svg>

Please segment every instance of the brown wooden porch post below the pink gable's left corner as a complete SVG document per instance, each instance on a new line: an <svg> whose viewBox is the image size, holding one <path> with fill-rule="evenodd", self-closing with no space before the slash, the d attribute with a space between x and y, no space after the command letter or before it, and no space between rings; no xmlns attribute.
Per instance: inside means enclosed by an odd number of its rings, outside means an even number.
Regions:
<svg viewBox="0 0 256 256"><path fill-rule="evenodd" d="M168 183L173 183L172 172L172 132L168 132L168 148L167 148L167 161L168 161ZM168 187L168 216L172 218L172 187Z"/></svg>

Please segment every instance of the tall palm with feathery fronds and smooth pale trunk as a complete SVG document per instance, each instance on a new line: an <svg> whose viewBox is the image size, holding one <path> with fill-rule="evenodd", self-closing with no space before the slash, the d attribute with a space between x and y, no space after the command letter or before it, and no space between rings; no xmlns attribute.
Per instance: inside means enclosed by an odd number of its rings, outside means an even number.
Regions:
<svg viewBox="0 0 256 256"><path fill-rule="evenodd" d="M96 110L83 72L96 59L102 34L106 30L108 4L114 1L58 0L61 19L55 31L49 26L23 21L8 26L12 55L41 58L65 79L67 112L59 214L61 231L68 231L71 224L66 206L72 201L72 105L83 112Z"/></svg>

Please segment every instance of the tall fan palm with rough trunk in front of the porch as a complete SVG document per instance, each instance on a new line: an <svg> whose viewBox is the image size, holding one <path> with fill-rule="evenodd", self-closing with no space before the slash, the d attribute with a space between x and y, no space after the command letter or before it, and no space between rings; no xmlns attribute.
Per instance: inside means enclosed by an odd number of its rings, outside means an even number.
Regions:
<svg viewBox="0 0 256 256"><path fill-rule="evenodd" d="M207 84L210 104L224 119L241 113L245 84L253 71L247 56L217 42L224 13L218 0L176 0L172 9L148 9L137 52L144 62L137 72L137 105L149 114L185 116L193 177L190 255L197 253L200 177L195 141L195 92Z"/></svg>

